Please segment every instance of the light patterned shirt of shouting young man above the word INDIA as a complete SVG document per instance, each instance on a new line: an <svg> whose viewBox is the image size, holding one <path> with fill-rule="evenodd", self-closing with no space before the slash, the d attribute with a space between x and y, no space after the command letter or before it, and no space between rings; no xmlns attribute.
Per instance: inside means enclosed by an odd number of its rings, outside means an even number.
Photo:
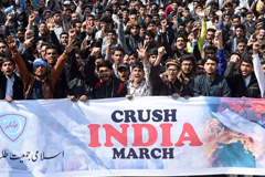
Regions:
<svg viewBox="0 0 265 177"><path fill-rule="evenodd" d="M141 81L138 86L134 86L132 82L128 85L128 93L132 96L150 96L152 94L152 87L149 80L151 65L150 63L144 64L144 71L146 80Z"/></svg>

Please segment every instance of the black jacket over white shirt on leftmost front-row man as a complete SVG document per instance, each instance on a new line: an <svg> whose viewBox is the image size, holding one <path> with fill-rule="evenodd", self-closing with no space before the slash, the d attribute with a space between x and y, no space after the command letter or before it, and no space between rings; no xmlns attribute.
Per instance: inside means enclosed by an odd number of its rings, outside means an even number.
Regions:
<svg viewBox="0 0 265 177"><path fill-rule="evenodd" d="M6 98L6 90L7 90L7 77L2 73L0 73L0 100ZM13 100L23 100L23 82L20 80L18 75L14 74L14 83L13 83Z"/></svg>

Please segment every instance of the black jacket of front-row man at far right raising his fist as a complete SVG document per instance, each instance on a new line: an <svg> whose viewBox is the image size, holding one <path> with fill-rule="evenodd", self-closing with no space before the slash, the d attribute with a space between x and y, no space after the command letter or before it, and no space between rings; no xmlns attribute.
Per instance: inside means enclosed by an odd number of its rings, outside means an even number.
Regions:
<svg viewBox="0 0 265 177"><path fill-rule="evenodd" d="M226 79L232 90L232 96L233 97L242 97L242 96L261 97L261 90L258 87L258 83L254 72L252 73L250 84L246 86L242 73L234 72L234 66L235 66L235 63L230 62L230 64L227 65L224 72L224 77Z"/></svg>

